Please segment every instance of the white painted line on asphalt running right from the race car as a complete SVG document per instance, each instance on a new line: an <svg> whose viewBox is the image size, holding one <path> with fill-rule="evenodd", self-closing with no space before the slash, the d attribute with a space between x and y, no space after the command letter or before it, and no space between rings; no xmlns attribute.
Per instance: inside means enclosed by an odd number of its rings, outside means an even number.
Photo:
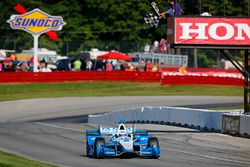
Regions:
<svg viewBox="0 0 250 167"><path fill-rule="evenodd" d="M231 159L219 158L219 157L212 157L212 156L209 156L209 155L196 154L196 153L192 153L192 152L188 152L188 151L183 151L183 150L176 150L176 149L170 149L170 148L161 148L161 150L174 151L174 152L178 152L178 153L189 154L189 155L193 155L193 156L197 156L197 157L202 157L202 158L207 158L207 159L213 159L213 160L220 160L220 161L226 161L226 162L233 162L233 163L240 163L240 164L250 165L250 163L246 162L246 161L231 160Z"/></svg>

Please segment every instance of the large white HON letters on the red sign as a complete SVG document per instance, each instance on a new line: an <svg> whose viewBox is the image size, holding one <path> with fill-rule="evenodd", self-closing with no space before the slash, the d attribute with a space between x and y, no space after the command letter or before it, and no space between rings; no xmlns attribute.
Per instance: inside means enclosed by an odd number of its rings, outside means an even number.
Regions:
<svg viewBox="0 0 250 167"><path fill-rule="evenodd" d="M246 36L250 39L250 26L248 24L228 24L228 23L214 23L209 25L208 23L179 23L182 27L182 34L179 39L198 39L198 40L205 40L213 38L215 40L229 40L233 38L235 40L245 40L243 36ZM197 28L191 28L191 26L195 25ZM218 34L218 28L224 28L225 34L221 35ZM206 35L208 32L208 35ZM197 34L197 35L191 35Z"/></svg>

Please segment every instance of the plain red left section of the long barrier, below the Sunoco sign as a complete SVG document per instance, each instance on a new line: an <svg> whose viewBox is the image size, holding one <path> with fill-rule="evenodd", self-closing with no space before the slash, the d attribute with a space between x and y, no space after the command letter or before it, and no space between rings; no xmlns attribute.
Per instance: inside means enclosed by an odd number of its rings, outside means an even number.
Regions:
<svg viewBox="0 0 250 167"><path fill-rule="evenodd" d="M137 71L79 71L79 72L0 72L0 83L126 81L160 82L160 72Z"/></svg>

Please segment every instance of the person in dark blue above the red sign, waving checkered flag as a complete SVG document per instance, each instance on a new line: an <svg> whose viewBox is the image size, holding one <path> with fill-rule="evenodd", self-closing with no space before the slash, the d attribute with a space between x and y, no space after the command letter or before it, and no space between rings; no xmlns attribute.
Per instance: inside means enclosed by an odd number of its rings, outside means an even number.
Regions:
<svg viewBox="0 0 250 167"><path fill-rule="evenodd" d="M165 18L166 16L181 16L182 15L182 8L177 0L169 0L170 8L161 13L160 17Z"/></svg>

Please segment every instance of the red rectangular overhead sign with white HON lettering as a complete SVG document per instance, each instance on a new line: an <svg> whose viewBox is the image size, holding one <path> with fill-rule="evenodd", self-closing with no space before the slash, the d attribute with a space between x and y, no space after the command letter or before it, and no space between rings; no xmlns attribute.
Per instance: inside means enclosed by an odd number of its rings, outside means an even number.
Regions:
<svg viewBox="0 0 250 167"><path fill-rule="evenodd" d="M250 45L250 18L176 17L173 23L174 44Z"/></svg>

